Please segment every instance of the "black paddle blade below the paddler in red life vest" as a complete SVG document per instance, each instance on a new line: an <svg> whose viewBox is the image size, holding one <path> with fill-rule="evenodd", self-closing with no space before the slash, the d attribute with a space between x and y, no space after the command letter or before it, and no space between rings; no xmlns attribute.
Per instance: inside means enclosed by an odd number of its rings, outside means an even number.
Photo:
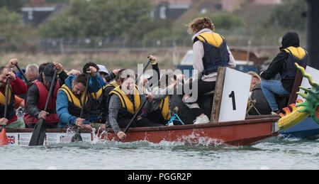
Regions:
<svg viewBox="0 0 319 184"><path fill-rule="evenodd" d="M34 127L29 146L42 146L45 140L46 124L44 119L40 119Z"/></svg>

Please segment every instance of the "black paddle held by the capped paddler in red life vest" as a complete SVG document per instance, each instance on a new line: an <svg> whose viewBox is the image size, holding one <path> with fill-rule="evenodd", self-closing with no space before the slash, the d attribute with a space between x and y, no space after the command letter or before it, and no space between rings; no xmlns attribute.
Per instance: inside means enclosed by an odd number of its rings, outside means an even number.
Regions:
<svg viewBox="0 0 319 184"><path fill-rule="evenodd" d="M57 71L55 71L52 82L50 85L49 94L47 94L47 102L45 103L44 111L47 111L47 106L50 101L50 97L52 96L53 89L55 88L55 80L57 79ZM33 130L33 134L30 139L29 146L41 146L45 140L45 132L46 132L46 124L45 119L41 118L39 121L35 123L35 127Z"/></svg>

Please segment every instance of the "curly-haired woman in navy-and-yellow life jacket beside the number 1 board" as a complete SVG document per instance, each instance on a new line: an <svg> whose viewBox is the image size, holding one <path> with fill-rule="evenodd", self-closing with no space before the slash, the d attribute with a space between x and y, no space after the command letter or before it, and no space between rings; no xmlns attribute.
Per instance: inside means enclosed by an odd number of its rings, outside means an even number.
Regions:
<svg viewBox="0 0 319 184"><path fill-rule="evenodd" d="M192 83L198 82L198 91L196 96L194 94L196 89L192 89L192 96L186 95L184 102L196 107L193 108L196 114L194 124L204 124L208 123L209 119L195 103L197 97L215 90L218 67L235 67L236 65L223 36L214 32L215 26L210 18L195 18L186 26L189 33L195 33L192 38L193 67L198 71L198 76L193 76Z"/></svg>

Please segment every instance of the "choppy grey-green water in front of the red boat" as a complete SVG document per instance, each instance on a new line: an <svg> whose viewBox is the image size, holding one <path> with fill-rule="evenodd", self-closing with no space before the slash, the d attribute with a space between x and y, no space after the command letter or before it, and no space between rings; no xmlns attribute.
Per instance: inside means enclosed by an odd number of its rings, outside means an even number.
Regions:
<svg viewBox="0 0 319 184"><path fill-rule="evenodd" d="M0 147L0 169L318 169L319 139L272 138L253 146L116 141Z"/></svg>

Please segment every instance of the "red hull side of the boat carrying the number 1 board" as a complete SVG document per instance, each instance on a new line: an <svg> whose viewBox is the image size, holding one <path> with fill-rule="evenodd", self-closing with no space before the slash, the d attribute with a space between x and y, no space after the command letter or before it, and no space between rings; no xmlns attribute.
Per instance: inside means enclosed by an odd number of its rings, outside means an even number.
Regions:
<svg viewBox="0 0 319 184"><path fill-rule="evenodd" d="M159 126L131 128L123 142L179 141L189 144L227 144L243 146L277 136L274 124L278 118L249 119L245 121L230 121L225 123L191 124L180 126ZM118 140L113 131L99 131L98 136L105 140Z"/></svg>

